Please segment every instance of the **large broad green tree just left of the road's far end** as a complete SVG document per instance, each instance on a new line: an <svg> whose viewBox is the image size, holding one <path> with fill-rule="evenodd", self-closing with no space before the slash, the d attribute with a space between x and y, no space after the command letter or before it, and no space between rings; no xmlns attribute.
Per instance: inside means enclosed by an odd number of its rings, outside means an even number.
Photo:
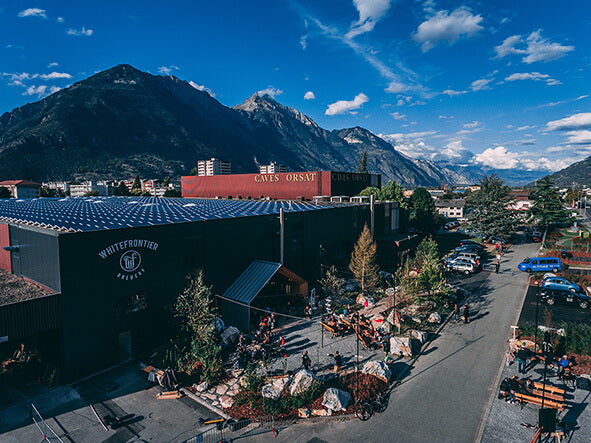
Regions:
<svg viewBox="0 0 591 443"><path fill-rule="evenodd" d="M470 229L482 236L509 239L517 225L516 213L508 207L511 202L509 190L496 174L482 177L480 190L472 193L470 198Z"/></svg>

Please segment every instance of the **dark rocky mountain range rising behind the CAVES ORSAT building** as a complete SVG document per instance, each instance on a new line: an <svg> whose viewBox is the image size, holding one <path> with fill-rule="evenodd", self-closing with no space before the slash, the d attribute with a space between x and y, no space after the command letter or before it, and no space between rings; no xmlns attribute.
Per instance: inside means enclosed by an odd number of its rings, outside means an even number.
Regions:
<svg viewBox="0 0 591 443"><path fill-rule="evenodd" d="M289 170L356 170L362 152L384 182L472 183L466 171L411 160L372 132L328 131L254 94L226 107L174 76L118 65L0 116L0 179L164 177L219 157L235 173L276 161Z"/></svg>

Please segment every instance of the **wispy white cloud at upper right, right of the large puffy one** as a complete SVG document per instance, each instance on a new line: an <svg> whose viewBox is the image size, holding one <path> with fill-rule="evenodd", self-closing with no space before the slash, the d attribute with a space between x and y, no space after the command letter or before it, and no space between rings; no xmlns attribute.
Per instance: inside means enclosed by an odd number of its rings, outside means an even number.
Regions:
<svg viewBox="0 0 591 443"><path fill-rule="evenodd" d="M527 36L525 40L521 35L507 37L501 45L495 47L495 52L497 58L503 58L510 54L523 55L521 61L530 64L559 59L574 49L574 46L563 46L560 43L550 42L542 37L542 30L538 29Z"/></svg>

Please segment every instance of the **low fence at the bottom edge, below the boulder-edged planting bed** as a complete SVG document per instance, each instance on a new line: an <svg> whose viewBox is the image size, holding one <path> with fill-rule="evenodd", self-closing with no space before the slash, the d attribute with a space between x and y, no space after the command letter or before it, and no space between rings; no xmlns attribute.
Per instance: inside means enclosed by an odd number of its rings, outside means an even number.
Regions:
<svg viewBox="0 0 591 443"><path fill-rule="evenodd" d="M252 437L265 432L277 432L272 415L242 421L226 420L206 431L185 440L184 443L219 443Z"/></svg>

